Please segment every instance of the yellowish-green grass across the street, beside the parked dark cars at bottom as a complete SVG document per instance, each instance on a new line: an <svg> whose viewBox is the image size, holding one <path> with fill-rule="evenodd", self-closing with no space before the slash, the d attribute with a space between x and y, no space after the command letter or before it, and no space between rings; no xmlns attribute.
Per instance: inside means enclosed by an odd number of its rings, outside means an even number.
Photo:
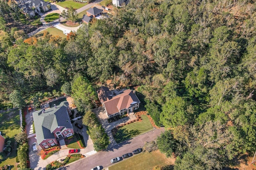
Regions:
<svg viewBox="0 0 256 170"><path fill-rule="evenodd" d="M130 158L126 158L113 166L109 170L152 170L154 166L166 166L174 164L174 158L166 158L159 150L154 152L142 152ZM142 168L143 167L143 168ZM170 169L172 169L170 167Z"/></svg>

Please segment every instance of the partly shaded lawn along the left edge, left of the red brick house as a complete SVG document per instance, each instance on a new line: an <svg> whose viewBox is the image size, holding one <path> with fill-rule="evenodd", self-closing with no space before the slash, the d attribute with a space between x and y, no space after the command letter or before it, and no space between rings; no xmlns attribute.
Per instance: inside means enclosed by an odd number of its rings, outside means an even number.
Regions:
<svg viewBox="0 0 256 170"><path fill-rule="evenodd" d="M17 146L15 145L14 136L20 132L20 111L15 109L13 111L8 111L0 114L0 131L2 134L9 136L8 140L12 141L12 152L8 158L0 163L0 166L9 164L12 166L12 169L16 169L16 150Z"/></svg>

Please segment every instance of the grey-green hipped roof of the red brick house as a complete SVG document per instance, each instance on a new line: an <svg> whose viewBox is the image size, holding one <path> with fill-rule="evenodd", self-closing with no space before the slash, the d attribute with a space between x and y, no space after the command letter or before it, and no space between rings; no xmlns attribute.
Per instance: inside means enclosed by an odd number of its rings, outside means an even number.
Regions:
<svg viewBox="0 0 256 170"><path fill-rule="evenodd" d="M57 127L73 128L67 111L68 102L63 101L60 105L33 113L34 125L36 130L36 140L40 144L44 139L54 138L52 133Z"/></svg>

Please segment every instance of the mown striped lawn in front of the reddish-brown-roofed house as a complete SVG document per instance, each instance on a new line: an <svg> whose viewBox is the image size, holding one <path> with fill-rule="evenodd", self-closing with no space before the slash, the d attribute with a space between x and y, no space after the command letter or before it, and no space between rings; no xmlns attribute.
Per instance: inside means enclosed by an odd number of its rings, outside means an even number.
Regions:
<svg viewBox="0 0 256 170"><path fill-rule="evenodd" d="M153 127L146 115L141 115L142 122L134 122L129 125L125 125L117 130L116 133L113 134L117 143L120 143L124 140L133 138L138 136L139 134L143 134L150 130L153 130Z"/></svg>

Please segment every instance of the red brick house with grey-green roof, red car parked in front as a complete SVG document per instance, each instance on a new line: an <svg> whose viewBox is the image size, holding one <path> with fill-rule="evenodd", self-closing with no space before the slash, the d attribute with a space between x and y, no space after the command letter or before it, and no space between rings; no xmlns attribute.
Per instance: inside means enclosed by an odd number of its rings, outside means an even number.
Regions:
<svg viewBox="0 0 256 170"><path fill-rule="evenodd" d="M64 138L74 135L70 121L70 107L67 101L60 105L33 113L36 140L43 150L65 144Z"/></svg>

